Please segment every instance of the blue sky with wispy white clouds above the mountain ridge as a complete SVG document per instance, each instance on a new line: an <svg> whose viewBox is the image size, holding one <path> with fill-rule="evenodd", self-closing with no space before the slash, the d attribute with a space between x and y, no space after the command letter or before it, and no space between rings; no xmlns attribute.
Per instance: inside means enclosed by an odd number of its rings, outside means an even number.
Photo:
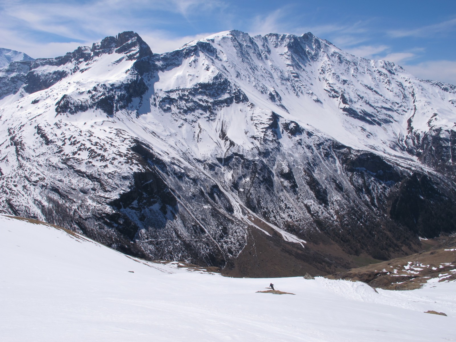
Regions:
<svg viewBox="0 0 456 342"><path fill-rule="evenodd" d="M311 31L356 56L456 84L456 1L0 0L0 47L56 57L121 31L153 52L237 29Z"/></svg>

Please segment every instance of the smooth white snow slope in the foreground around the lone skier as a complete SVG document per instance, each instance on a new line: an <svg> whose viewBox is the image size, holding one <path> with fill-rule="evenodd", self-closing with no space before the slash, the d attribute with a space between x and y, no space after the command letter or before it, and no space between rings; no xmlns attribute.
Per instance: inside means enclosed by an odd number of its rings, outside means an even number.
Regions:
<svg viewBox="0 0 456 342"><path fill-rule="evenodd" d="M240 279L0 215L2 341L454 341L456 283ZM138 262L140 261L140 262ZM128 271L134 271L130 273ZM296 295L255 293L273 282ZM425 314L443 311L448 316Z"/></svg>

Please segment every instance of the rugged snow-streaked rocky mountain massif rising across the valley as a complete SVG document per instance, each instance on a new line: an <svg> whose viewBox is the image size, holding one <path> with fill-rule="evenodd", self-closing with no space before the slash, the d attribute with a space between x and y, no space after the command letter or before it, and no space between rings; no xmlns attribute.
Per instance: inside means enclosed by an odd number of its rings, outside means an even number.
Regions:
<svg viewBox="0 0 456 342"><path fill-rule="evenodd" d="M327 274L456 230L456 87L311 33L124 32L0 84L1 209L120 251Z"/></svg>

